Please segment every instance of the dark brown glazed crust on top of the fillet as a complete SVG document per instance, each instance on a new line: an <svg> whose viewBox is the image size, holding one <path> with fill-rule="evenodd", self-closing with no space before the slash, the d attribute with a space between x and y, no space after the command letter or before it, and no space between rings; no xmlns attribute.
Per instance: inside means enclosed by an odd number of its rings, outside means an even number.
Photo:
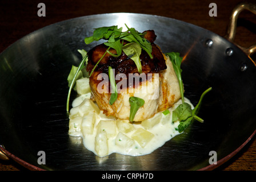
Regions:
<svg viewBox="0 0 256 182"><path fill-rule="evenodd" d="M157 37L153 30L148 30L143 32L145 34L145 39L147 39L152 46L152 56L153 59L150 58L148 53L142 49L141 52L141 65L143 73L157 73L164 69L166 69L165 59L162 55L161 50L154 44L155 38ZM125 42L126 43L126 42ZM108 47L105 44L100 44L95 46L88 52L88 63L87 63L87 71L91 72L94 68L95 64L101 59L102 55L106 52ZM112 53L116 53L114 49L109 50ZM133 60L131 60L128 56L125 55L124 52L121 53L119 57L113 57L106 53L103 59L99 62L94 71L98 73L106 73L108 74L109 66L115 69L115 75L118 73L125 73L128 75L129 73L138 73L137 67Z"/></svg>

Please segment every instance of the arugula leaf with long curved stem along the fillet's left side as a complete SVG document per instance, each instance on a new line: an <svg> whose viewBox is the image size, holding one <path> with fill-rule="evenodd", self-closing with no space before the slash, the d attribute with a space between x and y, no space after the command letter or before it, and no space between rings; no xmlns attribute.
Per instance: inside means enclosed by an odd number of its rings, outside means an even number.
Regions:
<svg viewBox="0 0 256 182"><path fill-rule="evenodd" d="M71 90L73 89L74 85L75 85L75 81L77 81L77 79L79 78L78 75L81 75L81 71L83 68L85 68L85 63L87 63L88 60L88 56L87 56L87 52L86 51L79 51L82 52L82 56L83 59L81 61L81 63L79 64L78 68L75 68L76 71L74 73L74 66L71 69L71 72L69 74L68 81L69 81L69 93L67 94L67 104L66 104L66 111L69 112L69 101L70 101L70 94L71 94Z"/></svg>

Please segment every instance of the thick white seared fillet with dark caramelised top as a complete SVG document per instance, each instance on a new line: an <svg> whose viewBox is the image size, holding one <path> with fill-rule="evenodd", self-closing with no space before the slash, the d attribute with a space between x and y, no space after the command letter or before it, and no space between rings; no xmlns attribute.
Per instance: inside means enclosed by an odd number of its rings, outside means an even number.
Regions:
<svg viewBox="0 0 256 182"><path fill-rule="evenodd" d="M112 57L107 53L97 65L90 77L91 93L99 108L106 115L113 115L119 119L129 119L129 98L134 96L145 101L145 104L139 108L134 117L134 121L143 121L153 117L159 111L168 109L181 98L179 83L173 65L169 57L163 55L158 46L154 44L155 37L152 30L147 31L145 35L145 38L152 45L153 59L150 59L149 55L142 50L140 56L142 64L141 75L138 75L134 61L123 52L119 57ZM106 49L107 47L101 44L88 52L87 71L90 72L93 69ZM114 49L110 49L110 51L115 53ZM115 76L122 75L120 80L116 80L119 89L117 100L113 105L109 104L111 96L110 84L107 84L109 80L102 80L99 77L101 73L108 75L109 66L115 69ZM134 81L132 85L129 82L129 76L131 76L129 73L135 74L132 75L134 80L137 78L137 82Z"/></svg>

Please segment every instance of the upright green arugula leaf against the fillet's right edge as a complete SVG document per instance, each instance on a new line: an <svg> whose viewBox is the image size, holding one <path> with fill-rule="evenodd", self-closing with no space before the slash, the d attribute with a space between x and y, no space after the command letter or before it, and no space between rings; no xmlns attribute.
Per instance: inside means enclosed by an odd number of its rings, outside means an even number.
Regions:
<svg viewBox="0 0 256 182"><path fill-rule="evenodd" d="M167 56L170 57L171 63L173 64L173 69L177 75L178 81L179 81L179 89L181 90L181 99L182 103L184 103L184 88L183 88L183 81L181 77L181 62L182 62L182 57L179 56L178 52L168 52L166 53Z"/></svg>

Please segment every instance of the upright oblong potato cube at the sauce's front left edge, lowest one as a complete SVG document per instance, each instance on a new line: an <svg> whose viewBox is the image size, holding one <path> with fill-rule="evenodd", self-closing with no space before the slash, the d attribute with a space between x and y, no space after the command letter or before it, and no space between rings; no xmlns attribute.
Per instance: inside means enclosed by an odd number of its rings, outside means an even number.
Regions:
<svg viewBox="0 0 256 182"><path fill-rule="evenodd" d="M98 133L95 137L95 152L98 156L103 157L108 155L109 146L107 144L107 133L106 131L102 131Z"/></svg>

